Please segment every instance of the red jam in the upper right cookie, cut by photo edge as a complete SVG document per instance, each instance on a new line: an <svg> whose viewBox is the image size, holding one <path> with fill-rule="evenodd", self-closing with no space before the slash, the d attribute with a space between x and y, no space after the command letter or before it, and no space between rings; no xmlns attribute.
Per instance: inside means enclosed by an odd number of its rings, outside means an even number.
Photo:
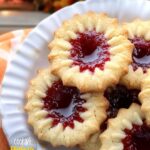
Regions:
<svg viewBox="0 0 150 150"><path fill-rule="evenodd" d="M143 69L143 72L147 72L147 68L150 68L150 41L146 41L143 38L135 37L130 39L135 48L132 53L132 66L136 71L138 67Z"/></svg>

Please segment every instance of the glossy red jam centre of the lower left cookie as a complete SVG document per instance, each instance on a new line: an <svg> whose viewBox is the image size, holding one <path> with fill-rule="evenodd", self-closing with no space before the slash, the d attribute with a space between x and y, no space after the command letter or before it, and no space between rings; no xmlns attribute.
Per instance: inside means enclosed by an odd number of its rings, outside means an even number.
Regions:
<svg viewBox="0 0 150 150"><path fill-rule="evenodd" d="M63 86L57 81L48 88L43 98L43 109L48 111L48 118L52 118L52 126L63 124L63 127L74 128L74 121L84 122L80 113L86 109L82 106L86 101L80 98L81 93L75 87Z"/></svg>

